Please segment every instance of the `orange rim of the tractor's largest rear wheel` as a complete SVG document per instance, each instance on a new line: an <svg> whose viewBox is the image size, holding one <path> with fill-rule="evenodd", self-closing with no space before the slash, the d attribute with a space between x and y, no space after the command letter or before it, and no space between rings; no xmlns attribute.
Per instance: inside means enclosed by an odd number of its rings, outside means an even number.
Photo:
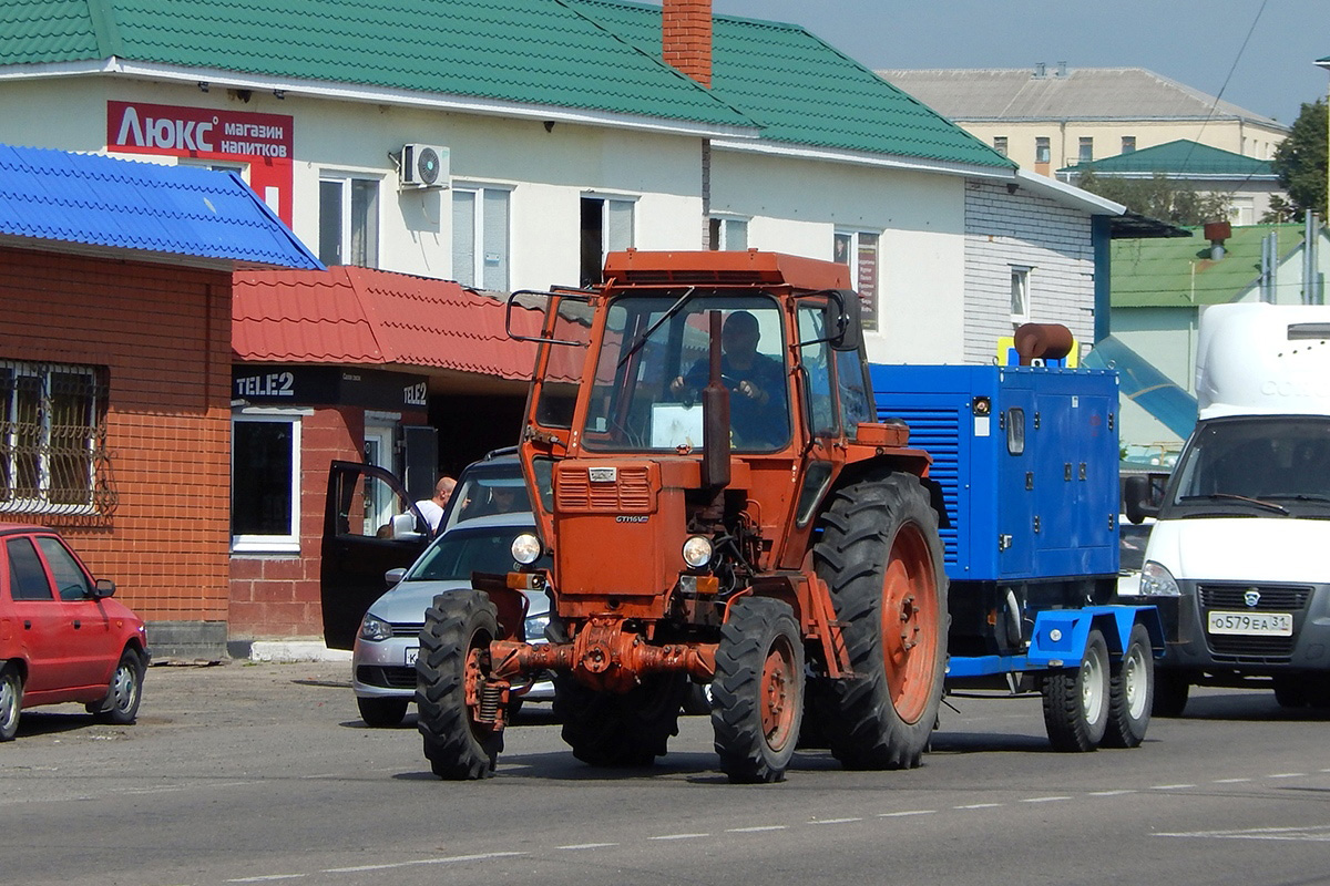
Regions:
<svg viewBox="0 0 1330 886"><path fill-rule="evenodd" d="M934 691L938 663L938 576L923 533L896 533L882 580L882 659L896 715L916 723Z"/></svg>

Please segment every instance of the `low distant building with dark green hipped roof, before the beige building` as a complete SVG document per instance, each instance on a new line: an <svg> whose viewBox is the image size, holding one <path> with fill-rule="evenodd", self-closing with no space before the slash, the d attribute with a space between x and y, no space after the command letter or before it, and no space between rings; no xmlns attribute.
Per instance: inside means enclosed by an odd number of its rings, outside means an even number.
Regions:
<svg viewBox="0 0 1330 886"><path fill-rule="evenodd" d="M1148 179L1166 175L1198 194L1226 194L1232 206L1229 221L1234 224L1256 224L1269 211L1270 198L1283 195L1279 177L1270 161L1244 157L1185 138L1064 166L1057 170L1057 178L1080 185L1081 173L1087 170L1100 178Z"/></svg>

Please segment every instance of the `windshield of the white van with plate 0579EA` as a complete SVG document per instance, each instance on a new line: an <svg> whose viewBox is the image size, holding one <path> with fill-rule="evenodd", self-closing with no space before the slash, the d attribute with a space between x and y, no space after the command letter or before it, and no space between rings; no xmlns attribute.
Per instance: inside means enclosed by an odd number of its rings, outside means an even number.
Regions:
<svg viewBox="0 0 1330 886"><path fill-rule="evenodd" d="M1330 518L1330 418L1212 418L1197 426L1160 517Z"/></svg>

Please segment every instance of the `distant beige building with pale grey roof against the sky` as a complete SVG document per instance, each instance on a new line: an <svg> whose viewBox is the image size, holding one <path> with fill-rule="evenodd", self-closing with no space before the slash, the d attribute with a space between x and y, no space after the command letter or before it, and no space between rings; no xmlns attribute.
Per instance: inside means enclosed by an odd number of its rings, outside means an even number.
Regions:
<svg viewBox="0 0 1330 886"><path fill-rule="evenodd" d="M891 85L1043 175L1190 139L1270 159L1289 128L1144 68L879 70Z"/></svg>

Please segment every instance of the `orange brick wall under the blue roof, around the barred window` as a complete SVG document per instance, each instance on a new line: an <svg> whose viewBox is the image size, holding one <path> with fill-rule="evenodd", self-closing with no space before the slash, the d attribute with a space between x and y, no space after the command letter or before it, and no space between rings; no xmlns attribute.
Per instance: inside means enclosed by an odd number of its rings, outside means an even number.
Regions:
<svg viewBox="0 0 1330 886"><path fill-rule="evenodd" d="M0 247L0 359L106 367L104 517L59 527L148 620L225 620L231 276Z"/></svg>

